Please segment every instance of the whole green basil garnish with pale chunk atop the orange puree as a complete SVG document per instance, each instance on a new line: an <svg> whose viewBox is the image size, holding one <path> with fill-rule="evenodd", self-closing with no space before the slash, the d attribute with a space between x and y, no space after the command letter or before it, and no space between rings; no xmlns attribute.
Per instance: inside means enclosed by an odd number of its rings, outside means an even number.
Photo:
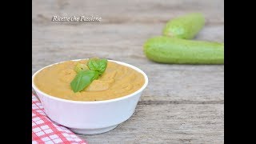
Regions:
<svg viewBox="0 0 256 144"><path fill-rule="evenodd" d="M94 79L98 79L106 70L107 60L105 58L90 58L87 66L90 70L79 63L74 68L78 73L73 81L70 82L71 89L74 93L84 90Z"/></svg>

